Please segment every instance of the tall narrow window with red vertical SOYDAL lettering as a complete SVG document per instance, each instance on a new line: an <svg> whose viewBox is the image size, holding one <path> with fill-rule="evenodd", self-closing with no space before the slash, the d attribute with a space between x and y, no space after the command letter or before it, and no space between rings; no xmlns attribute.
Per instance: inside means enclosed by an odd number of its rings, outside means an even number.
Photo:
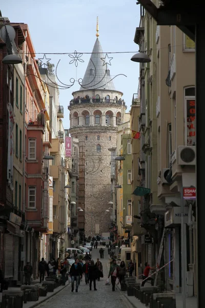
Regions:
<svg viewBox="0 0 205 308"><path fill-rule="evenodd" d="M185 145L196 145L195 87L185 89Z"/></svg>

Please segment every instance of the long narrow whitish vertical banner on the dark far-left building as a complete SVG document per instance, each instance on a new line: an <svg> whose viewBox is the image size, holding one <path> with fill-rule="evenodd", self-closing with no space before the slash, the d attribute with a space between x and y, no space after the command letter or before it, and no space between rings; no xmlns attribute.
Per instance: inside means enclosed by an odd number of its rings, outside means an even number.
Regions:
<svg viewBox="0 0 205 308"><path fill-rule="evenodd" d="M7 180L11 190L13 190L13 127L14 127L14 113L13 107L9 104L9 127L8 127L8 162L7 162Z"/></svg>

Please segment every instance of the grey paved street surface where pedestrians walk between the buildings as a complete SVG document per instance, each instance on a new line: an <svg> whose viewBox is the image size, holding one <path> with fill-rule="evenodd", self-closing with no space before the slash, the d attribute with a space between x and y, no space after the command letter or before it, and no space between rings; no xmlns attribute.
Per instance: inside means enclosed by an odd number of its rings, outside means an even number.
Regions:
<svg viewBox="0 0 205 308"><path fill-rule="evenodd" d="M39 304L38 308L131 308L132 306L116 287L116 291L112 292L111 285L105 285L109 273L107 248L104 248L104 259L100 259L103 264L104 278L96 281L97 291L90 291L89 285L86 285L85 278L80 282L78 293L71 292L71 283L63 291L53 296L50 300ZM92 259L96 262L99 258L99 247L92 250ZM93 289L93 287L92 287Z"/></svg>

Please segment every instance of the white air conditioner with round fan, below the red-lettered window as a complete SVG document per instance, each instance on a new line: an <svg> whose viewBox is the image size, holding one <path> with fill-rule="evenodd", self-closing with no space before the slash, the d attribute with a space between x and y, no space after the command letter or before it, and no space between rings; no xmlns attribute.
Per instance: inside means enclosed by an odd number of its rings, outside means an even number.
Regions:
<svg viewBox="0 0 205 308"><path fill-rule="evenodd" d="M196 165L195 146L178 146L178 165Z"/></svg>

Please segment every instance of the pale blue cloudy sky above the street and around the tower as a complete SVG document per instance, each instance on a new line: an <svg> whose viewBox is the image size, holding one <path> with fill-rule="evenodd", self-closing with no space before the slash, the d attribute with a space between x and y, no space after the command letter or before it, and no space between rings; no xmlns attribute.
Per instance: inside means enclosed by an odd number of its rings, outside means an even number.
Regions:
<svg viewBox="0 0 205 308"><path fill-rule="evenodd" d="M103 51L133 51L133 53L111 54L110 74L125 74L114 80L116 90L124 92L124 100L130 110L133 93L137 92L139 66L130 61L138 51L133 41L135 28L139 26L140 12L136 0L7 0L2 2L2 16L10 22L26 23L37 58L37 53L92 52L96 40L96 17L99 17L99 41ZM61 82L70 84L70 79L83 78L90 55L83 54L84 63L69 65L68 55L46 55L57 64L57 75ZM68 104L72 92L79 90L75 82L70 89L60 90L60 105L64 106L64 127L69 128Z"/></svg>

